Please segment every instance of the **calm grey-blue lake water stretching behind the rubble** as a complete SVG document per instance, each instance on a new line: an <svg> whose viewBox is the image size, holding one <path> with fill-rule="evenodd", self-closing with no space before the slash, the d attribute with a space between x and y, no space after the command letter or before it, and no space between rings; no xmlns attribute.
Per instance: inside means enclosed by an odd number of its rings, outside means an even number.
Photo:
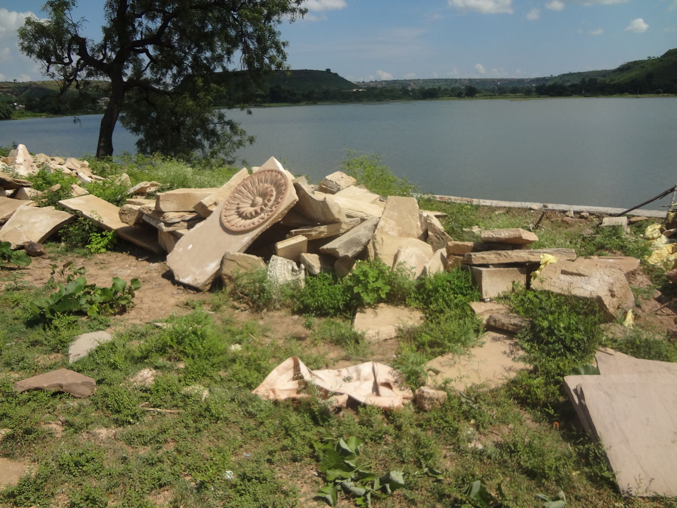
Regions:
<svg viewBox="0 0 677 508"><path fill-rule="evenodd" d="M274 155L313 181L351 149L382 154L426 192L472 198L630 207L677 182L677 98L337 104L230 116L257 136L238 158L260 165ZM0 146L93 153L100 119L3 121ZM116 154L135 152L134 142L116 127Z"/></svg>

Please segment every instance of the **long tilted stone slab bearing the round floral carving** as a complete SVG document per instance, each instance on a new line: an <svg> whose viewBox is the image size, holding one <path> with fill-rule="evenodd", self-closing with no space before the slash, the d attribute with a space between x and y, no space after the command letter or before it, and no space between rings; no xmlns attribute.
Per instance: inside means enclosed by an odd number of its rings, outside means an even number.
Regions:
<svg viewBox="0 0 677 508"><path fill-rule="evenodd" d="M264 170L249 175L214 213L177 242L167 256L174 278L203 291L209 289L223 255L244 251L297 200L285 173Z"/></svg>

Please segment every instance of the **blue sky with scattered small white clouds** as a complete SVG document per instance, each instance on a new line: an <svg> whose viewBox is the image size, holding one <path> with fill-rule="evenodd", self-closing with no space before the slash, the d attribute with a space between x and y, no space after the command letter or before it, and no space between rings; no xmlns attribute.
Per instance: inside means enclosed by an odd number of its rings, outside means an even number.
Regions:
<svg viewBox="0 0 677 508"><path fill-rule="evenodd" d="M42 0L0 1L0 81L42 79L16 28ZM81 0L92 37L103 0ZM282 24L292 68L351 81L539 77L615 68L677 47L677 0L307 0Z"/></svg>

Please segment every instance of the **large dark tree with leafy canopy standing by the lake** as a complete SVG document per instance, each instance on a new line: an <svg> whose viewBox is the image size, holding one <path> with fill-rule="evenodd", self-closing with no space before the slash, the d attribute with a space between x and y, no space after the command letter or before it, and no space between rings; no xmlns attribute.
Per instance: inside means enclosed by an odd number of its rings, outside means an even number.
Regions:
<svg viewBox="0 0 677 508"><path fill-rule="evenodd" d="M21 51L45 66L63 89L83 81L110 81L96 156L113 153L113 129L123 122L141 135L142 152L211 154L246 140L238 125L213 109L219 96L233 107L255 91L265 72L284 66L283 20L305 14L303 0L106 0L102 37L84 35L75 0L48 0L45 20L26 18ZM234 81L214 72L244 70Z"/></svg>

